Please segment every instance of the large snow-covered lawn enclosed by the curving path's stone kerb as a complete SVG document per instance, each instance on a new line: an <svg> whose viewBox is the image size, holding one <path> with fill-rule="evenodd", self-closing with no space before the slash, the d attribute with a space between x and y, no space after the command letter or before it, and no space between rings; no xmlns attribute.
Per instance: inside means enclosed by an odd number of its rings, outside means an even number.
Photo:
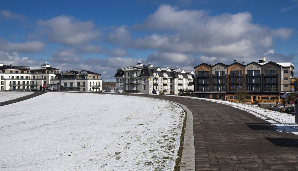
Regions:
<svg viewBox="0 0 298 171"><path fill-rule="evenodd" d="M185 118L163 100L61 92L0 111L7 170L173 170Z"/></svg>

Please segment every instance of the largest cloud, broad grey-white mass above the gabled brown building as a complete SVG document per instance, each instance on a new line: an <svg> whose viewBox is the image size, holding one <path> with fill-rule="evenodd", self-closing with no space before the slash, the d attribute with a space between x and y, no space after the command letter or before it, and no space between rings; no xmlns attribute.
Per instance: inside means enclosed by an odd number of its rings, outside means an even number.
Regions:
<svg viewBox="0 0 298 171"><path fill-rule="evenodd" d="M249 12L210 16L204 10L179 10L170 5L161 5L141 24L131 28L120 26L110 33L107 40L126 48L202 54L218 60L253 60L252 57L260 58L274 45L274 38L287 39L294 31L288 28L270 29L252 21ZM153 33L133 39L131 30L169 34Z"/></svg>

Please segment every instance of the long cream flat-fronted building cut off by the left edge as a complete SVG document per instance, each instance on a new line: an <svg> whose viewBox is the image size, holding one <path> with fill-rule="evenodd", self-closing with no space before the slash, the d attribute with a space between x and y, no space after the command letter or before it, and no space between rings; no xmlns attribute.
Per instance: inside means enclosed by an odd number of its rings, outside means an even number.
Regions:
<svg viewBox="0 0 298 171"><path fill-rule="evenodd" d="M47 63L35 67L0 63L1 90L38 90L40 85L50 84L60 71Z"/></svg>

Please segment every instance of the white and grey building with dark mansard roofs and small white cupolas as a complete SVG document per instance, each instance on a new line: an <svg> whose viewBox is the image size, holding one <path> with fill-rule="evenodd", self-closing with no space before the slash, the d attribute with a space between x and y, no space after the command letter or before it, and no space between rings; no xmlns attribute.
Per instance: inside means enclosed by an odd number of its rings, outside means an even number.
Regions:
<svg viewBox="0 0 298 171"><path fill-rule="evenodd" d="M177 95L181 91L193 91L193 71L180 68L153 67L137 63L134 67L119 68L115 74L116 87L123 85L123 92L152 94L153 89L164 94Z"/></svg>

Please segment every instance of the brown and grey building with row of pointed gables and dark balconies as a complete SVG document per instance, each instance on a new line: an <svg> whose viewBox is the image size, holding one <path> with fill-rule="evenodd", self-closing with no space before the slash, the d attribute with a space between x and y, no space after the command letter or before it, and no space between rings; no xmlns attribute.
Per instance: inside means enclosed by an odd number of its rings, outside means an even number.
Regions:
<svg viewBox="0 0 298 171"><path fill-rule="evenodd" d="M202 63L194 67L195 94L198 97L236 101L235 93L247 90L251 102L281 102L281 95L294 88L294 65L291 62L244 62L227 65Z"/></svg>

